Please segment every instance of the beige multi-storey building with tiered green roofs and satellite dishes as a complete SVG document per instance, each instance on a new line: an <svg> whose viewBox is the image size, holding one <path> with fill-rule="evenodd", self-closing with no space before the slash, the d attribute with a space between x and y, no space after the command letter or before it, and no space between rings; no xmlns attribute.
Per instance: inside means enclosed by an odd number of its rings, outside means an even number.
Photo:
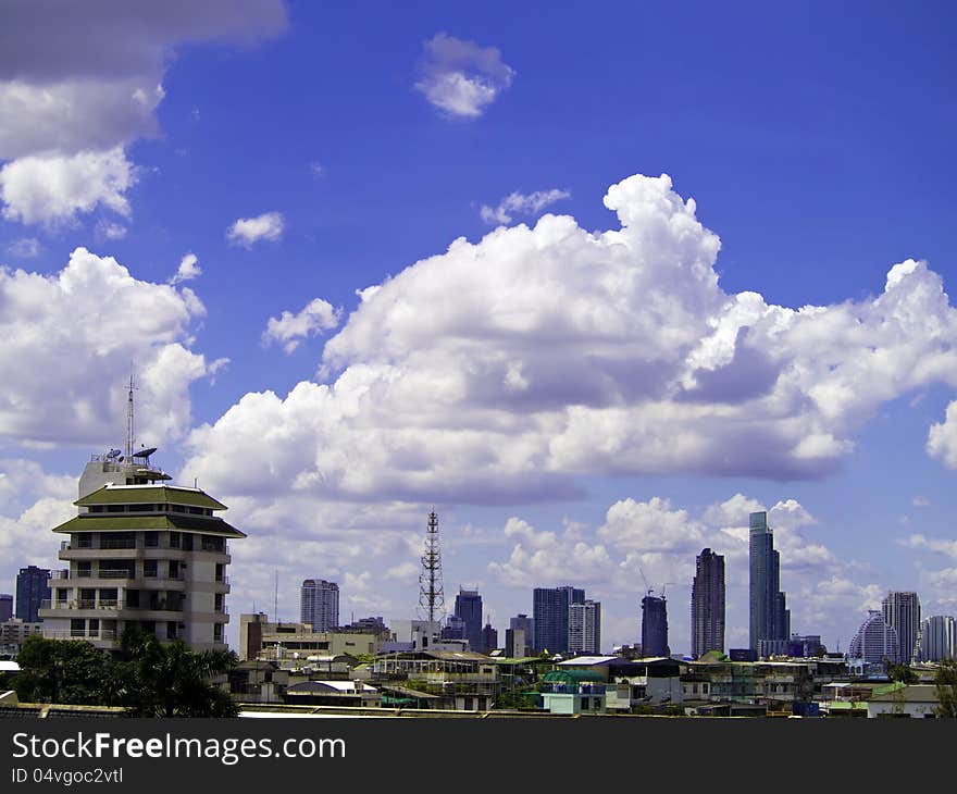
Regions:
<svg viewBox="0 0 957 794"><path fill-rule="evenodd" d="M95 455L79 479L77 514L40 609L44 635L116 648L128 626L195 650L226 647L228 542L246 537L197 487L171 485L156 449Z"/></svg>

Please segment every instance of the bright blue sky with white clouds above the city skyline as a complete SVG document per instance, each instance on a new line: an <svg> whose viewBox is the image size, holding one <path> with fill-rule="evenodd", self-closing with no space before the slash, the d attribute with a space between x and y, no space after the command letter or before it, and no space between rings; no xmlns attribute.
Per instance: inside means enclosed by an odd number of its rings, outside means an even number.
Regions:
<svg viewBox="0 0 957 794"><path fill-rule="evenodd" d="M234 616L278 571L283 618L313 576L411 617L433 505L499 629L570 583L634 642L644 571L686 650L710 545L742 645L758 508L796 631L953 613L954 17L7 3L0 590L133 362L140 441L250 536Z"/></svg>

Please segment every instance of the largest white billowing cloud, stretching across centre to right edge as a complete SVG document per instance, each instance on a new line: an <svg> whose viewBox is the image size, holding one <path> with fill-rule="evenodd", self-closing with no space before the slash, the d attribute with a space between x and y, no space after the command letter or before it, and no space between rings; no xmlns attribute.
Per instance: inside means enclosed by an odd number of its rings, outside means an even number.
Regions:
<svg viewBox="0 0 957 794"><path fill-rule="evenodd" d="M326 382L247 395L197 429L190 466L224 488L467 503L575 495L583 474L820 477L882 404L957 386L957 310L925 263L792 309L721 288L720 241L668 176L605 203L607 231L545 215L360 290ZM282 476L225 454L263 426L295 438Z"/></svg>

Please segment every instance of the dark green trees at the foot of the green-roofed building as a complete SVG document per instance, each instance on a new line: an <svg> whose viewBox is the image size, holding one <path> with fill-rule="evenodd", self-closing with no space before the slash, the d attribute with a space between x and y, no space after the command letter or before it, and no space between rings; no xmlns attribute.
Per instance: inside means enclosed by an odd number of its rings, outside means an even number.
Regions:
<svg viewBox="0 0 957 794"><path fill-rule="evenodd" d="M84 641L28 637L13 683L26 703L123 706L134 717L235 717L236 705L212 679L236 655L194 653L183 641L127 630L117 656Z"/></svg>

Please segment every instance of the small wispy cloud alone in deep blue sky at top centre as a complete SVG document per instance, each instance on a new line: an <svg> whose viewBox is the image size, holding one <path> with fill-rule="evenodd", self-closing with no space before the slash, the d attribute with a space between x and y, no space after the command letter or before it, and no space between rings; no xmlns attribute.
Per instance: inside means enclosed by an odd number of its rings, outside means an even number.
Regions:
<svg viewBox="0 0 957 794"><path fill-rule="evenodd" d="M482 115L514 78L514 70L502 62L495 47L439 33L424 48L415 89L448 116Z"/></svg>

